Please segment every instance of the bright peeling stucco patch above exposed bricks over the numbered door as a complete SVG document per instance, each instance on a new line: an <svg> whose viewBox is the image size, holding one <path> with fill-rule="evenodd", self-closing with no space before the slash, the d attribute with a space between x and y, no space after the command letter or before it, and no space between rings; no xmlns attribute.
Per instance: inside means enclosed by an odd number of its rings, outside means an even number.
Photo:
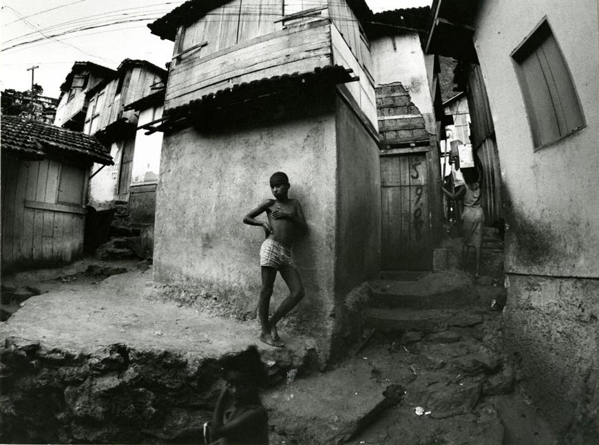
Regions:
<svg viewBox="0 0 599 445"><path fill-rule="evenodd" d="M424 117L426 130L436 134L427 61L418 34L415 32L397 34L395 49L391 37L381 37L370 43L377 86L401 82L406 91L410 93L412 103L418 107ZM426 57L430 63L432 57Z"/></svg>

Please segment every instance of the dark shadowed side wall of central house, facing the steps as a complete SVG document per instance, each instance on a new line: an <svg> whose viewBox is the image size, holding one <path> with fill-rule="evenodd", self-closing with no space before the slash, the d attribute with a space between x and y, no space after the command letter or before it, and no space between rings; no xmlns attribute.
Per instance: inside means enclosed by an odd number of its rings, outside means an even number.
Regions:
<svg viewBox="0 0 599 445"><path fill-rule="evenodd" d="M361 331L366 303L353 289L381 269L381 167L379 147L337 97L337 264L334 352Z"/></svg>

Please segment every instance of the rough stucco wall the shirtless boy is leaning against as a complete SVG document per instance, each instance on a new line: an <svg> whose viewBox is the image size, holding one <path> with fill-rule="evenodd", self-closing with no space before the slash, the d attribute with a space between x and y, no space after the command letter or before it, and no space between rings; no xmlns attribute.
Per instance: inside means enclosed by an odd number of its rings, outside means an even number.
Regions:
<svg viewBox="0 0 599 445"><path fill-rule="evenodd" d="M289 176L309 233L293 247L306 297L289 324L310 331L328 355L335 262L335 115L205 134L165 135L156 199L154 278L209 291L242 313L255 313L260 291L260 227L244 215L271 198L269 177ZM262 216L265 218L265 216ZM273 304L287 296L281 278ZM258 329L258 323L256 325Z"/></svg>

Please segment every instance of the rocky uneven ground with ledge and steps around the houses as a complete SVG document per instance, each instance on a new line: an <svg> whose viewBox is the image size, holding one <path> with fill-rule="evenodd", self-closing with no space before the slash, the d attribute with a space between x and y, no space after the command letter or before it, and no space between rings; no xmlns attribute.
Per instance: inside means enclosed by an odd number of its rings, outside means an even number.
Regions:
<svg viewBox="0 0 599 445"><path fill-rule="evenodd" d="M503 353L502 284L383 275L362 341L325 372L308 338L260 346L271 443L556 444ZM162 298L134 258L5 277L3 293L3 443L202 443L216 360L257 331Z"/></svg>

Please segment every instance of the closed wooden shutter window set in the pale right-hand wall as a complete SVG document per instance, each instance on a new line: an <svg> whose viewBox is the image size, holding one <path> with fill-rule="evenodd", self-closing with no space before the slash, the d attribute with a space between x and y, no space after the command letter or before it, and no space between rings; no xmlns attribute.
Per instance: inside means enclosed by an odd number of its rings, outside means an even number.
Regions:
<svg viewBox="0 0 599 445"><path fill-rule="evenodd" d="M536 149L585 126L574 82L546 20L512 57L518 64Z"/></svg>

